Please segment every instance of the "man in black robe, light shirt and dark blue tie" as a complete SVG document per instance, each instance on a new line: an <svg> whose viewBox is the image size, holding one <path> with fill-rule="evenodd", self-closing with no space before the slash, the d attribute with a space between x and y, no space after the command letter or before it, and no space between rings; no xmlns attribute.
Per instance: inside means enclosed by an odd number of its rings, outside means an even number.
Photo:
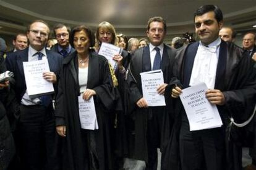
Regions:
<svg viewBox="0 0 256 170"><path fill-rule="evenodd" d="M140 73L161 69L164 83L159 85L157 93L164 94L171 78L171 63L176 51L164 45L166 21L162 17L148 20L147 36L150 45L137 49L132 56L127 83L129 87L130 120L134 119L134 129L130 130L129 143L134 143L130 157L146 161L146 169L156 169L158 162L157 148L160 148L161 125L166 106L148 107L142 95Z"/></svg>

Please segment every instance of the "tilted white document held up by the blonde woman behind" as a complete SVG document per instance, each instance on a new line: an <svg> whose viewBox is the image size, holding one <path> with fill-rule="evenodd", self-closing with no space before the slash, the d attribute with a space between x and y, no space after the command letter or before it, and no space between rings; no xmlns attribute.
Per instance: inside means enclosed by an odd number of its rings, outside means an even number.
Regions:
<svg viewBox="0 0 256 170"><path fill-rule="evenodd" d="M106 59L108 59L108 62L111 64L111 66L114 69L116 66L116 61L114 61L112 58L114 55L121 54L121 53L122 53L122 48L111 45L109 43L102 43L98 54L101 56L105 56Z"/></svg>

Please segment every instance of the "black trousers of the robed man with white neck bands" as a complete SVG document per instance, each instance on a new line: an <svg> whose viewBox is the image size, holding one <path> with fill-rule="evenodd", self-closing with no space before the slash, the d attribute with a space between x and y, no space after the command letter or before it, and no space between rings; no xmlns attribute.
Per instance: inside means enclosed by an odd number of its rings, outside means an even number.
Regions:
<svg viewBox="0 0 256 170"><path fill-rule="evenodd" d="M179 143L182 170L225 169L225 142L221 128L190 132L187 117L183 116Z"/></svg>

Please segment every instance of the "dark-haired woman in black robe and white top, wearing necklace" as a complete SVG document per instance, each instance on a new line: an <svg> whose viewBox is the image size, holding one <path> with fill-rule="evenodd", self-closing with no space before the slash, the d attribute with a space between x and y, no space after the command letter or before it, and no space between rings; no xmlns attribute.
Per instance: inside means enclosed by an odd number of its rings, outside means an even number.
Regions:
<svg viewBox="0 0 256 170"><path fill-rule="evenodd" d="M64 137L63 168L113 169L115 93L108 60L90 49L95 37L84 25L71 31L70 44L75 52L63 61L55 110L56 130ZM90 107L95 107L98 129L83 129L81 95L85 101L94 101Z"/></svg>

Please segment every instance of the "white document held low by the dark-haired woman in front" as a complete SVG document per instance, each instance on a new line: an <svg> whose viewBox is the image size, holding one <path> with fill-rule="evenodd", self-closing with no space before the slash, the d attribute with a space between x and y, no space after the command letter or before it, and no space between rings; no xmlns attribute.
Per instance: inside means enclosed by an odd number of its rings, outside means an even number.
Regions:
<svg viewBox="0 0 256 170"><path fill-rule="evenodd" d="M95 130L99 129L93 96L90 100L83 100L82 95L79 100L79 118L82 129Z"/></svg>

